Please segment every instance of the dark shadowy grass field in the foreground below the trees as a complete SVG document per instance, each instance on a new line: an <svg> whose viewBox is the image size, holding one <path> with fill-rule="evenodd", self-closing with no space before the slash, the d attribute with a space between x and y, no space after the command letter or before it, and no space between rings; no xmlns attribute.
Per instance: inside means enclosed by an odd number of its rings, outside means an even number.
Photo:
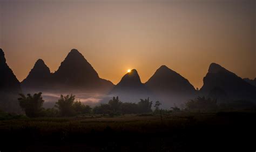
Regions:
<svg viewBox="0 0 256 152"><path fill-rule="evenodd" d="M0 121L1 151L255 151L255 112Z"/></svg>

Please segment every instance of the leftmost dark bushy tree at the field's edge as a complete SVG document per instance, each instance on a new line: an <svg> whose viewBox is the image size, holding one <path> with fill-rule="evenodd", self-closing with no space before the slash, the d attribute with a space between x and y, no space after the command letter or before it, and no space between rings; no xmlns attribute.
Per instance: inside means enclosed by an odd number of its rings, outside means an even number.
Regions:
<svg viewBox="0 0 256 152"><path fill-rule="evenodd" d="M25 96L21 93L19 96L21 96L21 98L18 98L19 106L21 106L28 117L42 116L42 106L44 103L42 92L35 93L33 96L30 94Z"/></svg>

